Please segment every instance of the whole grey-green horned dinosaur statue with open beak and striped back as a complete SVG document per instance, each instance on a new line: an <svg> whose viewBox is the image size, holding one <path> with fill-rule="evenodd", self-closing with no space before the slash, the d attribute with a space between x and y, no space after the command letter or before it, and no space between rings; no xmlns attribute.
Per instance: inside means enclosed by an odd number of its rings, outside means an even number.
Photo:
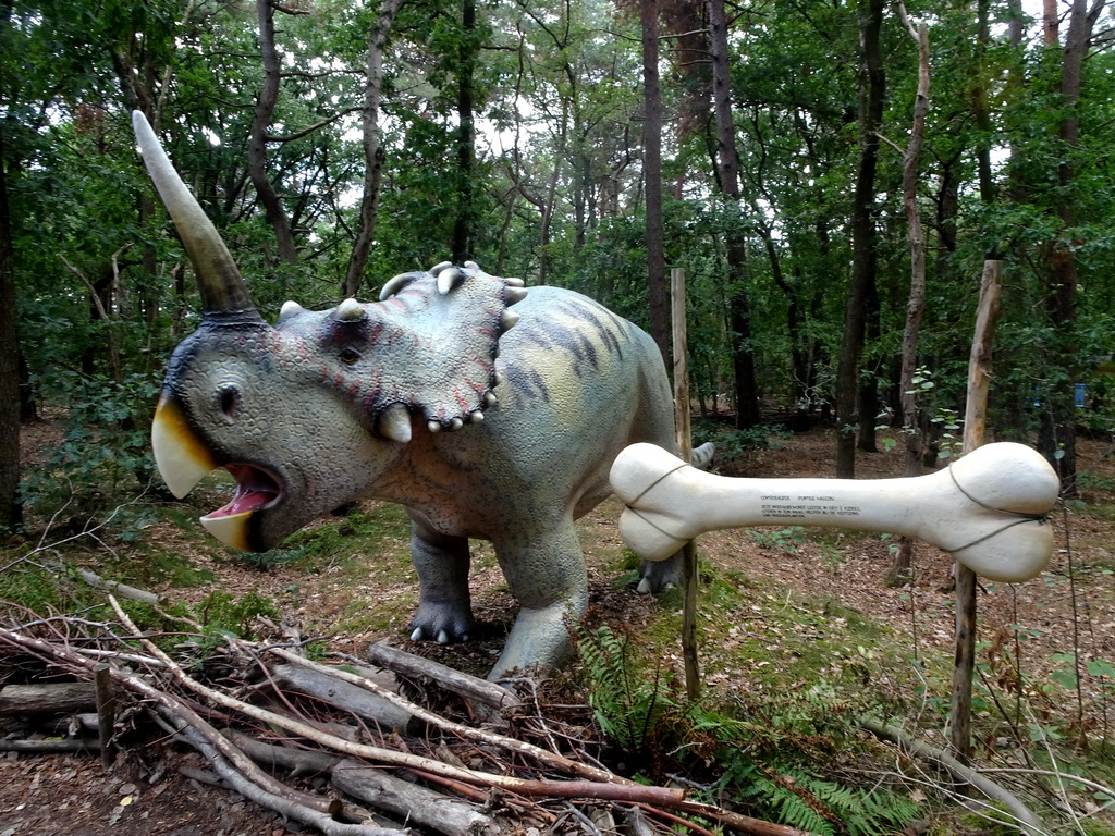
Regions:
<svg viewBox="0 0 1115 836"><path fill-rule="evenodd" d="M560 663L565 620L589 599L573 521L609 495L609 467L629 444L673 449L655 342L581 294L527 292L472 262L397 276L375 303L287 302L272 328L142 114L134 127L203 307L169 360L152 427L171 490L185 496L219 467L232 474L233 499L201 522L244 551L272 548L357 497L403 504L415 639L474 633L468 538L489 539L521 606L491 678ZM678 583L677 558L644 564L642 591Z"/></svg>

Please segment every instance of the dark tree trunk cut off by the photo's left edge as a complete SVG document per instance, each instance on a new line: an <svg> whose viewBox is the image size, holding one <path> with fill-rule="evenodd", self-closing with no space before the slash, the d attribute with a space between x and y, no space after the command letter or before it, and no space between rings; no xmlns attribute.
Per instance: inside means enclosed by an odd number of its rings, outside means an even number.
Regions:
<svg viewBox="0 0 1115 836"><path fill-rule="evenodd" d="M2 23L8 26L8 21ZM8 159L0 133L0 529L22 522L19 502L19 336Z"/></svg>

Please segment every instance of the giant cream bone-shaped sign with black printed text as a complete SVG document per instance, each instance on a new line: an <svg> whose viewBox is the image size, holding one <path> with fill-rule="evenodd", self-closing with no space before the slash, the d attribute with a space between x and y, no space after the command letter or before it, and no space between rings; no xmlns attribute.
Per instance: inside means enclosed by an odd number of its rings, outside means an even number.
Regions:
<svg viewBox="0 0 1115 836"><path fill-rule="evenodd" d="M948 468L899 479L753 479L700 473L637 444L612 465L628 506L620 535L643 560L662 560L698 534L758 525L811 525L924 539L992 581L1037 575L1053 554L1046 515L1057 474L1020 444L979 447Z"/></svg>

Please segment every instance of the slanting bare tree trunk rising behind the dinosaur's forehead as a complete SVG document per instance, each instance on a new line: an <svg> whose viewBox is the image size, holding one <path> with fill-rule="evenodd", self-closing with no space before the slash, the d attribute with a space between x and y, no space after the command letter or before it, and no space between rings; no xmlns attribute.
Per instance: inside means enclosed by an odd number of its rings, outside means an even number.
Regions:
<svg viewBox="0 0 1115 836"><path fill-rule="evenodd" d="M376 215L379 211L379 184L384 175L384 147L379 142L379 99L384 86L384 50L395 16L403 0L384 0L376 26L368 36L367 76L363 86L363 195L360 197L360 225L356 232L348 270L345 272L345 297L355 299L363 283L368 253L376 237Z"/></svg>

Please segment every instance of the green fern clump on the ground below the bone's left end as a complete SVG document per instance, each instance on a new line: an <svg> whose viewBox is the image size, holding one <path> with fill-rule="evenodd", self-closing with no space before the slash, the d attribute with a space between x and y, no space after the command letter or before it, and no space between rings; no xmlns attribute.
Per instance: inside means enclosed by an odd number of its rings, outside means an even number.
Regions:
<svg viewBox="0 0 1115 836"><path fill-rule="evenodd" d="M823 836L881 836L917 817L900 791L834 778L847 771L841 761L870 758L855 720L863 697L820 683L721 707L690 702L660 664L640 671L608 626L574 634L601 732L615 757L657 770L647 778L682 774L717 801Z"/></svg>

